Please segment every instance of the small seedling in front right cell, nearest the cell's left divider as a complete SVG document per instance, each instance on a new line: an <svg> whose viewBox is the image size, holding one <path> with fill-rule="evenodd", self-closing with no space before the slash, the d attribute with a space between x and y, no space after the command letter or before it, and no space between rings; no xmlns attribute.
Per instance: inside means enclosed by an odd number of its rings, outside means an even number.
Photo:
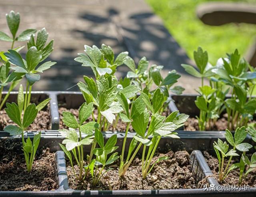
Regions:
<svg viewBox="0 0 256 197"><path fill-rule="evenodd" d="M234 134L234 137L232 133L226 129L226 140L230 145L233 147L229 150L229 145L226 143L226 141L222 141L221 139L218 139L218 142L214 141L213 147L216 152L218 161L219 161L219 179L220 181L224 180L228 173L236 168L235 165L230 166L230 162L233 158L233 156L239 156L238 153L236 153L236 149L242 152L249 151L249 149L252 147L252 145L248 143L242 143L244 139L246 138L247 132L245 127L237 128ZM229 157L228 163L224 169L224 160L226 157Z"/></svg>

